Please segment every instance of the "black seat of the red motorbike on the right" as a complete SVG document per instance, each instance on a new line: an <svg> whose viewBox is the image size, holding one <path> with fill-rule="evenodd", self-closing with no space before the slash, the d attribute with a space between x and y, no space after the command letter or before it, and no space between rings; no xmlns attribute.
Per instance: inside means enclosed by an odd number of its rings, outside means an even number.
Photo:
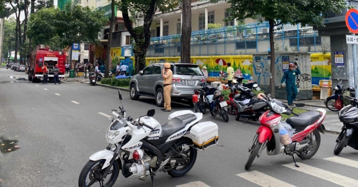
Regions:
<svg viewBox="0 0 358 187"><path fill-rule="evenodd" d="M300 127L307 127L313 124L321 117L321 113L317 111L308 111L300 113L298 116L292 116L286 119L286 123L290 124L292 128L301 129Z"/></svg>

